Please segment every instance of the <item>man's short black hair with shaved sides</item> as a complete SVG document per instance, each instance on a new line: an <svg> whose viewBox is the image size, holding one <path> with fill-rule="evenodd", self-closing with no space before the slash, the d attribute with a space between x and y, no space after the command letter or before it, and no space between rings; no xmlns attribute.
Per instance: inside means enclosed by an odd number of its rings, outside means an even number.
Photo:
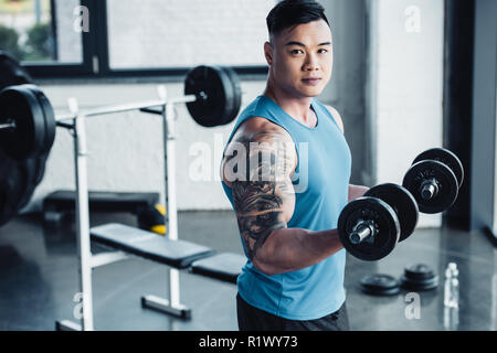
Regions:
<svg viewBox="0 0 497 353"><path fill-rule="evenodd" d="M279 1L266 18L269 39L290 26L325 20L322 6L313 0L283 0Z"/></svg>

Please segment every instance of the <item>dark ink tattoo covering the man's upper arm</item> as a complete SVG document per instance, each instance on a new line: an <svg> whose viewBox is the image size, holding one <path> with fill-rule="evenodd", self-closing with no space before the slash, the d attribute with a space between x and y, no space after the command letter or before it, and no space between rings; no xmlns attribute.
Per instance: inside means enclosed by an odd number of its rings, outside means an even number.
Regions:
<svg viewBox="0 0 497 353"><path fill-rule="evenodd" d="M251 260L273 231L286 228L283 206L294 190L284 176L288 176L293 160L275 142L278 135L282 133L257 132L239 140L246 147L246 179L232 183L233 203Z"/></svg>

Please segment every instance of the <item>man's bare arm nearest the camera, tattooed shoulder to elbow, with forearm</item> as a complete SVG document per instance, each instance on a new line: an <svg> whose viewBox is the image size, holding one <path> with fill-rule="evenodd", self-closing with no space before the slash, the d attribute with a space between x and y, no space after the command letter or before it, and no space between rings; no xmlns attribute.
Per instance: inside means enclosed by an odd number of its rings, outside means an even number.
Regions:
<svg viewBox="0 0 497 353"><path fill-rule="evenodd" d="M251 120L236 132L222 163L248 258L269 276L315 265L342 248L338 232L287 227L295 207L295 145L283 128Z"/></svg>

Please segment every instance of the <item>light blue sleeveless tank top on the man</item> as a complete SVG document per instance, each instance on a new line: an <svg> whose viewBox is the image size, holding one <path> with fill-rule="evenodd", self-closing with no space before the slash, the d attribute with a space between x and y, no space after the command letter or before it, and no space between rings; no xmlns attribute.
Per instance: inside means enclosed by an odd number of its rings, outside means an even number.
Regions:
<svg viewBox="0 0 497 353"><path fill-rule="evenodd" d="M292 180L295 211L287 226L334 229L348 202L350 149L329 110L315 98L311 108L318 120L315 128L292 118L273 99L258 96L239 116L228 143L239 126L252 117L265 118L288 131L298 162ZM231 189L224 182L222 185L233 206ZM237 279L239 293L251 306L285 319L319 319L337 311L346 299L345 263L342 249L314 266L267 276L247 259Z"/></svg>

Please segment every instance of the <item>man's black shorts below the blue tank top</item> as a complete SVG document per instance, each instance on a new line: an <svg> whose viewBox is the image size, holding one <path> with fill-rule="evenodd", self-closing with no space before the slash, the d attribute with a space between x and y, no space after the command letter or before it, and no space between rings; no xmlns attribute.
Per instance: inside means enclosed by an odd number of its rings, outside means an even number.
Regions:
<svg viewBox="0 0 497 353"><path fill-rule="evenodd" d="M336 312L316 320L287 320L250 306L236 295L240 331L349 331L346 303Z"/></svg>

